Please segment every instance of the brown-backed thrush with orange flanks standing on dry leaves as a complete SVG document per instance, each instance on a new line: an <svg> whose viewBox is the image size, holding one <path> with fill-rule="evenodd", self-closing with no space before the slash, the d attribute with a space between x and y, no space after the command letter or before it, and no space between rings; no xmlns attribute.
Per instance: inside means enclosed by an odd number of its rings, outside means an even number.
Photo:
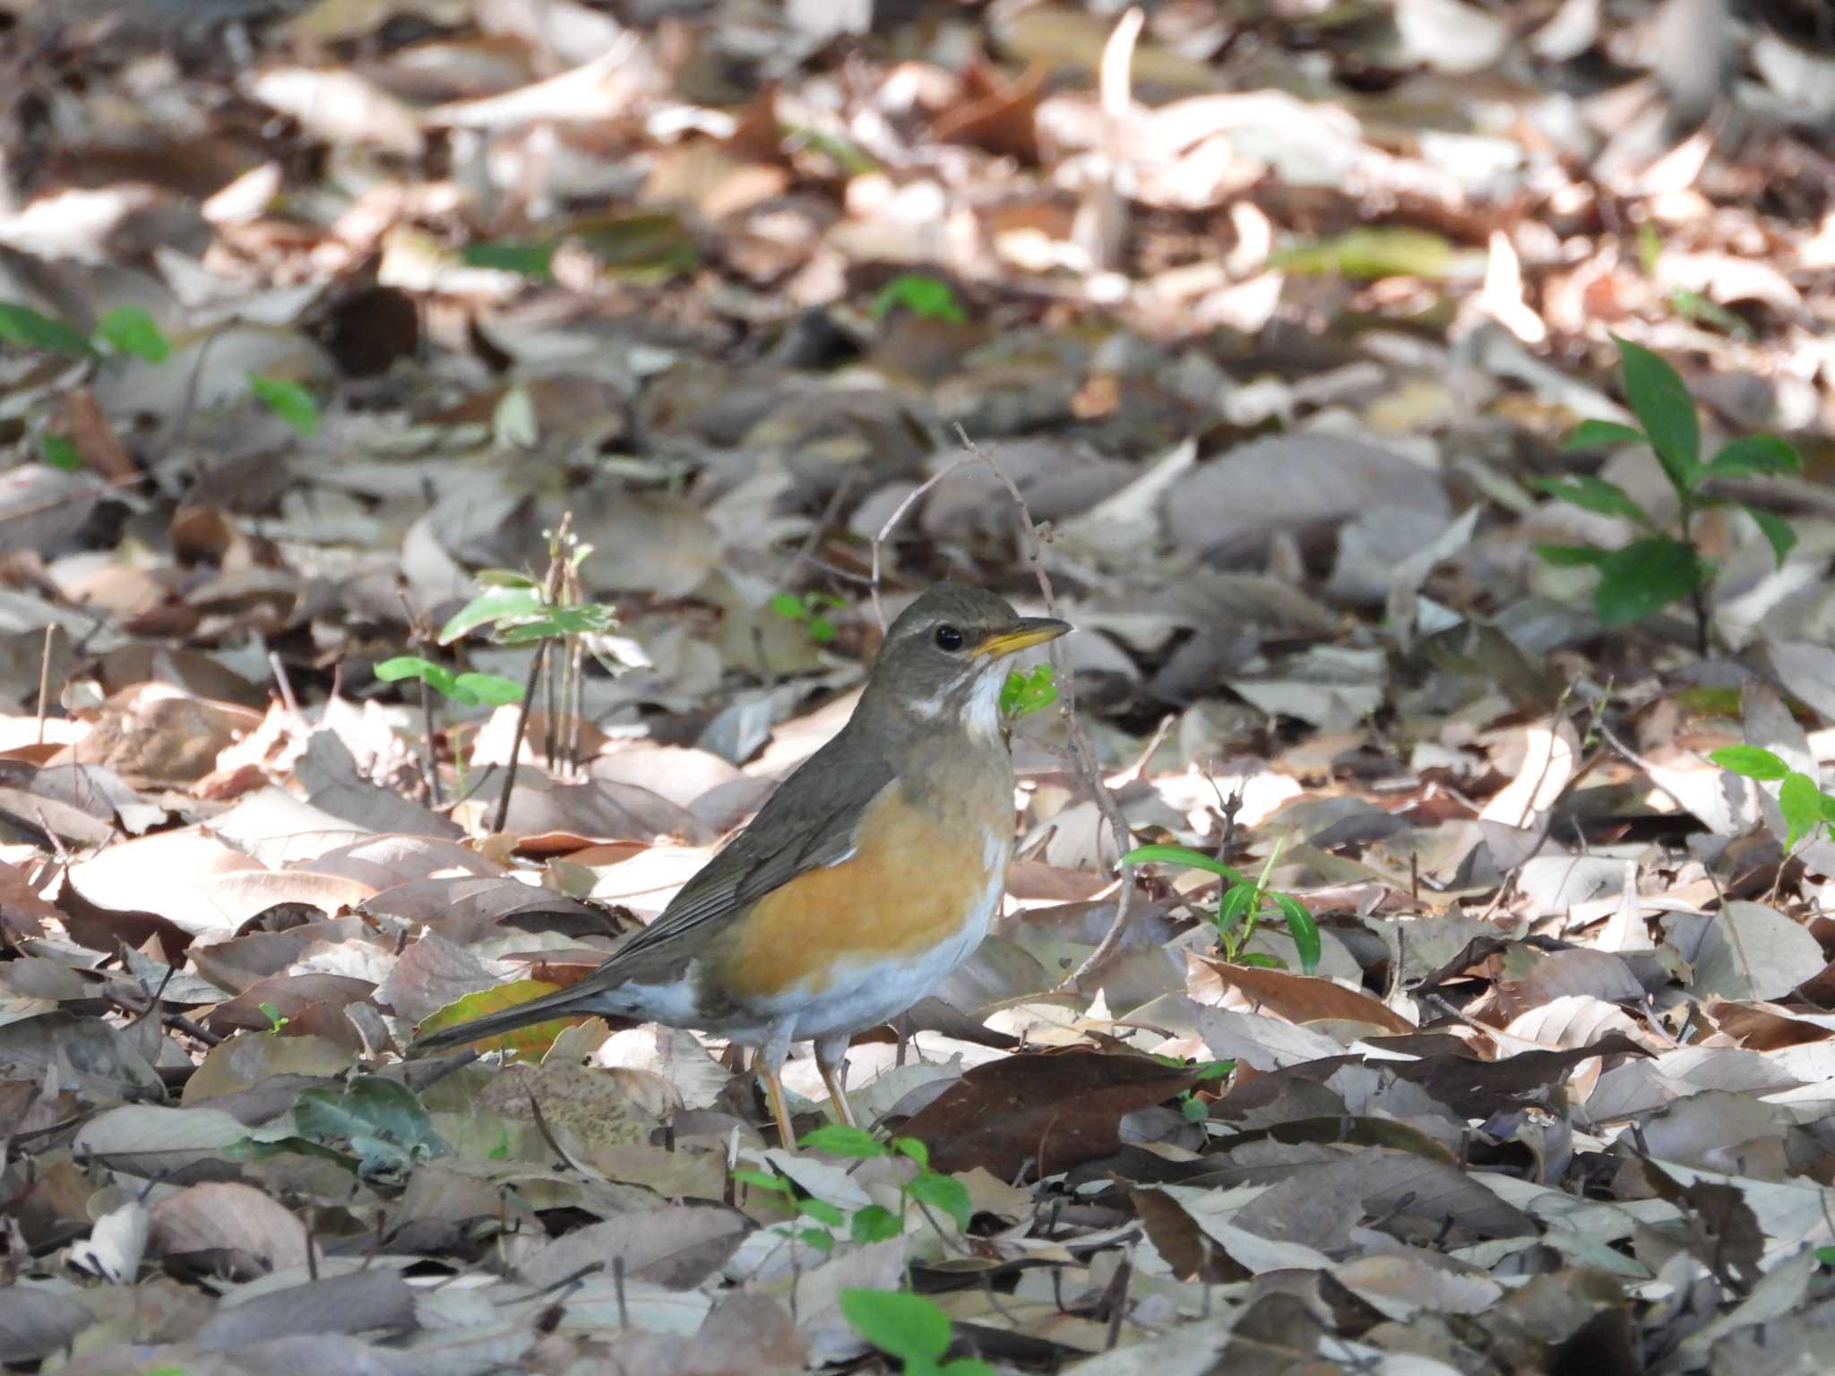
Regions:
<svg viewBox="0 0 1835 1376"><path fill-rule="evenodd" d="M1006 893L1006 660L1070 629L984 589L927 589L886 627L848 723L655 921L582 982L407 1053L571 1015L697 1027L752 1049L778 1141L795 1147L780 1071L793 1042L813 1042L837 1117L859 1126L848 1042L967 960Z"/></svg>

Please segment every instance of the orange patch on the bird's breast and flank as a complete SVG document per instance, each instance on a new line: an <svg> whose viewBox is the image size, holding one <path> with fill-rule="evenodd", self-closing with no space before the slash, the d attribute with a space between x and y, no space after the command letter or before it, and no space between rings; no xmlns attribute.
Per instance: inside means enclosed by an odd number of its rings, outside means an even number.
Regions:
<svg viewBox="0 0 1835 1376"><path fill-rule="evenodd" d="M1011 796L1011 785L1007 787ZM1006 868L1009 802L914 807L888 785L866 805L859 848L773 890L721 941L712 974L736 1002L791 989L820 993L837 965L912 956L941 945L985 901Z"/></svg>

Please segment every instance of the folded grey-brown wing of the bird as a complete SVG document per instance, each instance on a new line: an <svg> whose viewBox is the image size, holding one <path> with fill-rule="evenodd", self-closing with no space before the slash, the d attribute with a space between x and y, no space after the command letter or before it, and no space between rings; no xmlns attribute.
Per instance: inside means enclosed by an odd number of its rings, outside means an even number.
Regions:
<svg viewBox="0 0 1835 1376"><path fill-rule="evenodd" d="M853 853L861 813L892 778L892 765L877 752L855 747L848 761L837 765L828 747L817 750L778 785L752 824L701 866L670 906L618 947L593 978L622 982L633 965L666 961L664 947L756 903L806 870L844 860Z"/></svg>

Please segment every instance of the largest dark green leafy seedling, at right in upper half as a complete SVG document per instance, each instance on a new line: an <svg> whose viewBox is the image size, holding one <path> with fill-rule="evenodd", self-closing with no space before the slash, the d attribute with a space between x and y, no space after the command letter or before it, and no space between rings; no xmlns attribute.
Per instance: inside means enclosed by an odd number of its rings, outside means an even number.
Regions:
<svg viewBox="0 0 1835 1376"><path fill-rule="evenodd" d="M1551 497L1600 516L1617 516L1644 534L1622 549L1596 545L1538 545L1536 552L1556 567L1598 569L1593 611L1602 626L1629 626L1688 598L1696 613L1696 648L1708 649L1707 585L1714 565L1703 558L1696 538L1696 517L1714 506L1740 506L1771 543L1782 567L1796 543L1789 521L1774 512L1730 497L1714 495L1714 479L1771 477L1802 470L1802 455L1776 435L1747 435L1729 440L1708 462L1701 462L1701 422L1696 402L1675 369L1657 354L1629 339L1617 339L1624 374L1624 393L1639 426L1609 420L1584 420L1567 448L1591 449L1606 444L1646 444L1677 499L1674 530L1664 530L1629 492L1602 477L1569 475L1541 479Z"/></svg>

